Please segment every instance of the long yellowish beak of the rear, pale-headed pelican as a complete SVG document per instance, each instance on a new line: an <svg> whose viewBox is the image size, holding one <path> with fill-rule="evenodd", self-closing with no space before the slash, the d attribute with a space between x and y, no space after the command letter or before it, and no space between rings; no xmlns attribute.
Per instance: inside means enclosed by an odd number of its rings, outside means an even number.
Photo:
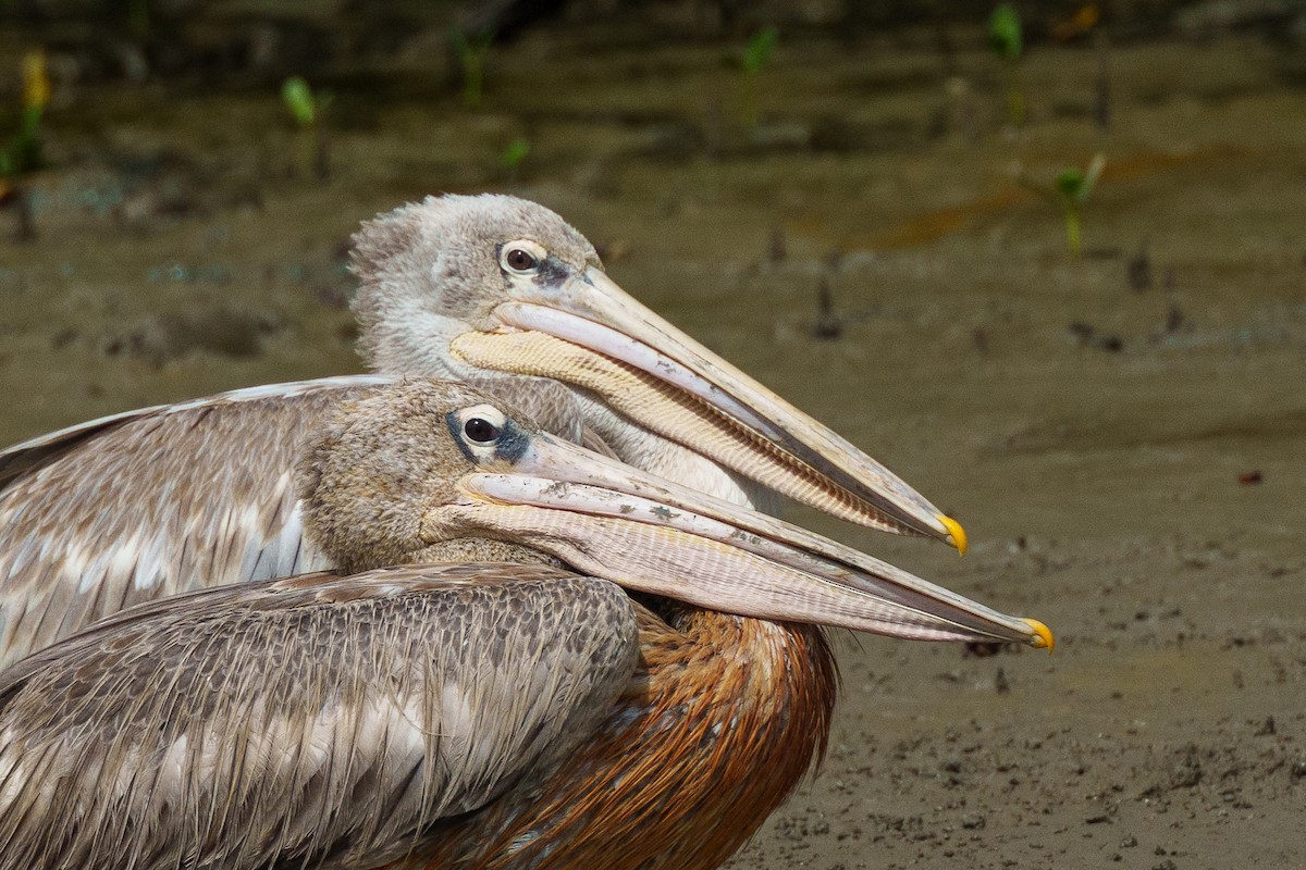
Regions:
<svg viewBox="0 0 1306 870"><path fill-rule="evenodd" d="M464 333L481 368L592 390L657 434L795 501L863 526L929 535L963 553L965 531L895 473L757 383L590 267L547 296L495 309L513 331Z"/></svg>

